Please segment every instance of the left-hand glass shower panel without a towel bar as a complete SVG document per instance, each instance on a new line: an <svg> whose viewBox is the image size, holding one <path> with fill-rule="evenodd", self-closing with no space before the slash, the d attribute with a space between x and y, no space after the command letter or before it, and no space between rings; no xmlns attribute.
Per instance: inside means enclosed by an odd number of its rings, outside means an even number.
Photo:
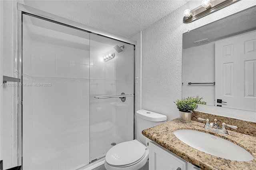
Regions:
<svg viewBox="0 0 256 170"><path fill-rule="evenodd" d="M89 162L89 33L23 14L23 170Z"/></svg>

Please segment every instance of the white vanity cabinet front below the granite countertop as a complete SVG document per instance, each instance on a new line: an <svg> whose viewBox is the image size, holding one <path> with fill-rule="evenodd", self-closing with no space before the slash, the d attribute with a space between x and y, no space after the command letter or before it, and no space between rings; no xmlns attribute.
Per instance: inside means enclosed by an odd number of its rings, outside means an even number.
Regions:
<svg viewBox="0 0 256 170"><path fill-rule="evenodd" d="M200 170L151 140L147 140L147 145L149 170Z"/></svg>

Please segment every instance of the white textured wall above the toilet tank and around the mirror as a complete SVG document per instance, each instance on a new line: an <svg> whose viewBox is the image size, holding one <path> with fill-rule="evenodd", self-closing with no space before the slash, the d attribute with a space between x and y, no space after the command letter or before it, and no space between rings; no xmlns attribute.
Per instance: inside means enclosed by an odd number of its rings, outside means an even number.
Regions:
<svg viewBox="0 0 256 170"><path fill-rule="evenodd" d="M179 117L174 101L182 96L182 34L256 5L254 0L241 0L190 24L182 22L185 9L200 6L192 0L142 31L142 109L158 112L168 120ZM209 107L208 113L224 115ZM240 110L234 110L239 115ZM248 113L248 112L246 112ZM253 113L252 113L253 115ZM243 115L241 115L243 116ZM250 121L254 121L250 118Z"/></svg>

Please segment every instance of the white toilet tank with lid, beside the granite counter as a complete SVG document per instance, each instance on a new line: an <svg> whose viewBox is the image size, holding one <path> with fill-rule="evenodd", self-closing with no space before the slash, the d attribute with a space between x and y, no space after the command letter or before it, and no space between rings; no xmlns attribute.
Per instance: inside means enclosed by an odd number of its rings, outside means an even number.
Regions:
<svg viewBox="0 0 256 170"><path fill-rule="evenodd" d="M143 136L142 130L166 122L166 115L154 113L146 110L136 112L136 139L146 145L146 137Z"/></svg>

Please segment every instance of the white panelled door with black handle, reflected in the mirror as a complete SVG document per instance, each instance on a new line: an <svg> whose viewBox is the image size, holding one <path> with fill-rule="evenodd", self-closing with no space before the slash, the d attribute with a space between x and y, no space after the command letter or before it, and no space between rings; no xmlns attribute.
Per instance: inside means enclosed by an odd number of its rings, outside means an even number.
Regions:
<svg viewBox="0 0 256 170"><path fill-rule="evenodd" d="M215 105L256 111L255 31L215 43L215 81Z"/></svg>

